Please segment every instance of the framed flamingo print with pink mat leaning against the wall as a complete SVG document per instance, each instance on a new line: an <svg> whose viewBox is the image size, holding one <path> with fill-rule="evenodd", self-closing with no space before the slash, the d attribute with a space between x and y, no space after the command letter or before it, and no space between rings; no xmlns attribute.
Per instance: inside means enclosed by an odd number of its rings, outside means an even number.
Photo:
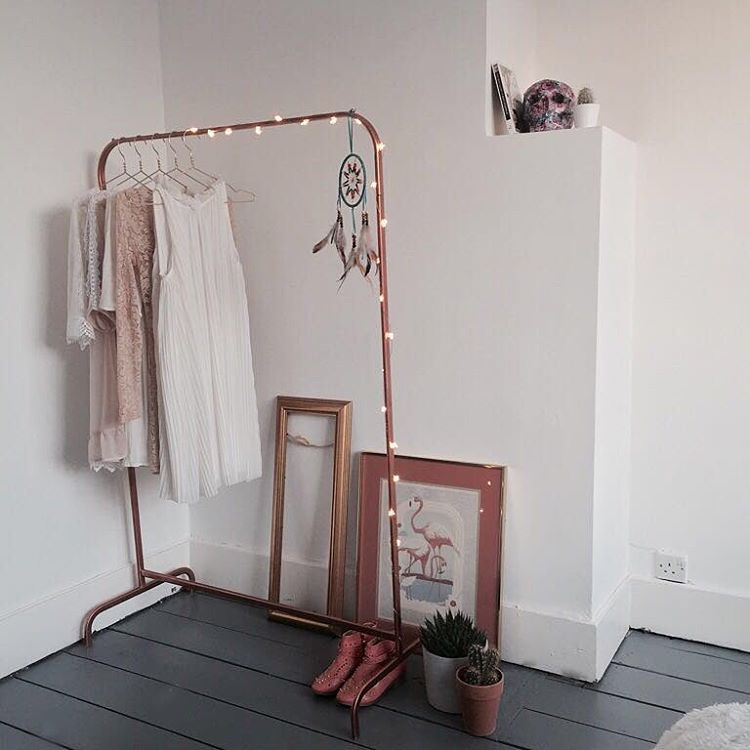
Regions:
<svg viewBox="0 0 750 750"><path fill-rule="evenodd" d="M499 642L501 466L396 457L398 563L404 623L436 609L471 615ZM385 455L359 462L357 619L392 618Z"/></svg>

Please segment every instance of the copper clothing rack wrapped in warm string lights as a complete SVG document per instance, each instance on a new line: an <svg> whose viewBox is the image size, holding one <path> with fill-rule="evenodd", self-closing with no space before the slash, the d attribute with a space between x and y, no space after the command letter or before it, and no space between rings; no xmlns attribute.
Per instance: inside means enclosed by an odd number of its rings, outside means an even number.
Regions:
<svg viewBox="0 0 750 750"><path fill-rule="evenodd" d="M358 710L363 696L375 685L381 678L402 664L408 655L414 651L419 643L419 639L412 639L406 642L401 624L401 596L400 596L400 579L398 565L398 518L396 508L396 482L398 477L395 473L395 442L393 435L393 398L392 398L392 378L391 378L391 340L390 322L388 315L388 258L386 255L385 241L385 183L383 180L383 144L378 136L375 126L355 110L346 110L338 112L320 112L311 115L300 115L298 117L274 117L270 120L258 120L256 122L241 122L234 125L217 125L206 128L190 128L186 131L176 130L168 133L153 133L152 135L134 135L123 138L113 138L102 150L99 156L97 168L97 179L99 187L106 189L106 167L107 157L112 150L123 143L134 143L141 141L154 141L170 138L193 137L200 135L213 135L221 133L232 133L240 130L255 130L256 128L280 128L289 125L307 125L312 122L328 120L335 122L338 118L354 117L364 127L372 141L373 157L375 161L375 205L377 211L377 242L378 255L380 258L380 338L383 356L383 396L384 396L384 418L385 418L385 440L386 456L388 466L388 522L390 530L390 549L391 549L391 588L393 595L393 630L385 630L380 627L370 627L362 623L353 622L342 617L331 617L318 612L309 612L298 607L291 607L279 602L272 602L257 596L251 596L239 591L212 586L207 583L201 583L195 580L195 573L191 568L175 568L166 573L149 570L143 558L143 536L141 532L141 517L138 509L138 485L134 468L128 468L128 483L130 488L130 511L133 523L133 542L135 548L135 586L128 591L117 596L113 596L97 607L92 609L83 620L83 639L87 646L91 645L94 620L104 611L122 604L123 602L133 599L140 594L150 591L162 583L170 583L180 586L190 591L202 591L208 594L235 599L246 602L257 607L273 609L290 615L298 615L307 620L318 622L323 625L333 625L349 630L356 630L367 635L376 635L394 641L396 647L395 656L386 662L383 668L375 674L357 694L351 707L351 730L352 737L355 739L359 736L359 718ZM335 119L334 119L335 118ZM260 131L258 131L260 132Z"/></svg>

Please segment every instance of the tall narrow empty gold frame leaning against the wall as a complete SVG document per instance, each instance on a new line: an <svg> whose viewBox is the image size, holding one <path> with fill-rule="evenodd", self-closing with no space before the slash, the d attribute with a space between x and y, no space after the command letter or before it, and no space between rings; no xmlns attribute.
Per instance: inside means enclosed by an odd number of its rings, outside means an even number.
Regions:
<svg viewBox="0 0 750 750"><path fill-rule="evenodd" d="M276 398L276 454L273 473L273 518L271 521L271 556L268 574L268 600L280 601L281 561L284 541L284 493L286 490L287 434L290 414L316 414L333 417L336 432L333 443L333 487L331 490L331 535L328 548L328 591L326 614L342 617L344 612L344 577L346 575L346 517L349 499L349 465L351 461L352 402L323 398ZM334 625L309 620L301 615L270 609L269 619L332 632Z"/></svg>

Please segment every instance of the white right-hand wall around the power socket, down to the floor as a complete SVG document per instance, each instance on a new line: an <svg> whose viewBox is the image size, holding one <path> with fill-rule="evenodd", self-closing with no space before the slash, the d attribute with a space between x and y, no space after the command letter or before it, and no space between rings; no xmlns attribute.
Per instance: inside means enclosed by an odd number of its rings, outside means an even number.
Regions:
<svg viewBox="0 0 750 750"><path fill-rule="evenodd" d="M633 624L750 649L750 4L538 13L539 77L592 86L603 123L638 143ZM655 548L688 555L691 586L649 581Z"/></svg>

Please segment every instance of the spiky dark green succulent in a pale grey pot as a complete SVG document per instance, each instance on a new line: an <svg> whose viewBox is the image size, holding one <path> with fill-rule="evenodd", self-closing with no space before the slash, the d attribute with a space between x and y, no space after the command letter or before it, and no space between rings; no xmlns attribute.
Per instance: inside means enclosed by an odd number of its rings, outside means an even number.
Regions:
<svg viewBox="0 0 750 750"><path fill-rule="evenodd" d="M486 645L487 636L463 612L437 611L419 630L427 700L438 711L460 713L456 670L468 664L472 646Z"/></svg>

